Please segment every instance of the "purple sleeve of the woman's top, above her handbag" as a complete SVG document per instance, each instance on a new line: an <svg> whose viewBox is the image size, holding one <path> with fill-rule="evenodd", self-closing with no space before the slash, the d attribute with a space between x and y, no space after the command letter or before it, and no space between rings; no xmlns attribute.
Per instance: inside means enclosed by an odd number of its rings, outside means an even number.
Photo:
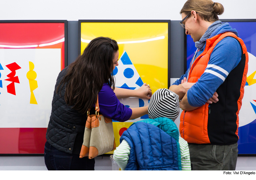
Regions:
<svg viewBox="0 0 256 180"><path fill-rule="evenodd" d="M98 95L100 113L103 116L119 122L124 122L130 119L132 114L131 108L120 103L113 89L108 84L103 84Z"/></svg>

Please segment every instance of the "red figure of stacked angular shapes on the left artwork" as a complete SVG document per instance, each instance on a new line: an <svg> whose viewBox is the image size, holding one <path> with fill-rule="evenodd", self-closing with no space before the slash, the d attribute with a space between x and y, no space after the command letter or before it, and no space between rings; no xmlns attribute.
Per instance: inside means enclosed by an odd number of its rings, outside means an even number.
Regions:
<svg viewBox="0 0 256 180"><path fill-rule="evenodd" d="M19 78L18 76L15 76L16 74L15 71L18 69L21 69L21 67L16 62L8 64L6 65L6 67L12 71L10 74L7 75L9 79L5 79L7 81L11 81L11 84L7 86L7 92L10 94L16 95L14 82L19 83Z"/></svg>

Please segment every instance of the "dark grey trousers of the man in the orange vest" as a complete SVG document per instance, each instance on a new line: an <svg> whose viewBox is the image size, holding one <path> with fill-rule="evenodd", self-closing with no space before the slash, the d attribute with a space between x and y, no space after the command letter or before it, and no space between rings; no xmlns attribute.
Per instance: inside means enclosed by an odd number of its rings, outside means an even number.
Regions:
<svg viewBox="0 0 256 180"><path fill-rule="evenodd" d="M238 145L189 144L192 170L236 170Z"/></svg>

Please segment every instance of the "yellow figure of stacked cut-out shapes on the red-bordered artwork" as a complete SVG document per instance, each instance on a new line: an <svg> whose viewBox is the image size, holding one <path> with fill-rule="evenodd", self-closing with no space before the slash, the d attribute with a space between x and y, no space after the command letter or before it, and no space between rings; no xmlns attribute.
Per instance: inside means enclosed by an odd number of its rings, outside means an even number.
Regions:
<svg viewBox="0 0 256 180"><path fill-rule="evenodd" d="M29 72L27 73L27 78L29 80L29 87L30 87L30 104L37 104L37 100L35 99L35 95L33 93L33 90L38 88L37 81L35 78L37 78L37 73L33 71L34 64L29 61Z"/></svg>

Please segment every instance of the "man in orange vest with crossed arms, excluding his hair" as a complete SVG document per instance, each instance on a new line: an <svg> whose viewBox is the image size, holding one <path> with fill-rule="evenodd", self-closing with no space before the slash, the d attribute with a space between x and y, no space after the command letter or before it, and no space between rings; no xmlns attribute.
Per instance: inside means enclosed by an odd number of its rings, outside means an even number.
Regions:
<svg viewBox="0 0 256 180"><path fill-rule="evenodd" d="M247 50L228 23L183 9L181 25L198 49L186 74L169 88L182 99L180 134L189 144L192 170L235 170Z"/></svg>

